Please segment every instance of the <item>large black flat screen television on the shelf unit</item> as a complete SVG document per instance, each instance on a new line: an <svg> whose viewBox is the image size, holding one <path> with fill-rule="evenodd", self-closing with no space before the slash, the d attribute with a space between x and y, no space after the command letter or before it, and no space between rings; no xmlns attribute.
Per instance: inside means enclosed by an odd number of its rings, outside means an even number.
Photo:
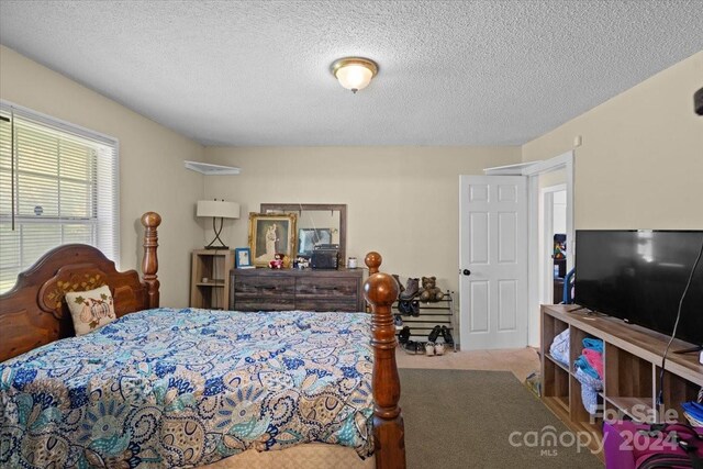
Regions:
<svg viewBox="0 0 703 469"><path fill-rule="evenodd" d="M703 231L576 232L574 302L671 335ZM681 309L677 338L703 345L703 259Z"/></svg>

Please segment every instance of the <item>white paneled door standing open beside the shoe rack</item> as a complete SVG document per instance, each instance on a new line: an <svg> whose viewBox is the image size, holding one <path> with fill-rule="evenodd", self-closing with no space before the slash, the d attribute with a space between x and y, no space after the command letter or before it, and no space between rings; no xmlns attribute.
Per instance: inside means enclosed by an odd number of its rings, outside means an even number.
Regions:
<svg viewBox="0 0 703 469"><path fill-rule="evenodd" d="M459 340L462 350L527 345L524 176L460 176Z"/></svg>

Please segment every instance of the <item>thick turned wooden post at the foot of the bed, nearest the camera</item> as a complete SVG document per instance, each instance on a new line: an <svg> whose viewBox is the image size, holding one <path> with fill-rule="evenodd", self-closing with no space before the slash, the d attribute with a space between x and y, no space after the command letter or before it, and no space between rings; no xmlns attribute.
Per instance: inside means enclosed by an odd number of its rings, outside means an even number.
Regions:
<svg viewBox="0 0 703 469"><path fill-rule="evenodd" d="M405 467L405 438L400 401L400 377L395 364L395 326L391 305L398 298L398 283L388 273L378 273L381 255L369 253L369 278L364 295L371 305L371 346L373 347L373 443L376 468Z"/></svg>

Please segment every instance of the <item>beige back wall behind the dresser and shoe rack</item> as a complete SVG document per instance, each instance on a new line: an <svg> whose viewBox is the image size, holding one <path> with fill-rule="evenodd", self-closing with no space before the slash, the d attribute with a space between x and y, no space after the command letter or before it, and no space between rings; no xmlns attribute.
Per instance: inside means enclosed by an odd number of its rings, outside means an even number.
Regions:
<svg viewBox="0 0 703 469"><path fill-rule="evenodd" d="M346 203L347 256L378 250L384 270L458 288L459 175L518 163L520 147L205 148L241 176L205 178L205 196L242 204L225 243L247 245L260 203Z"/></svg>

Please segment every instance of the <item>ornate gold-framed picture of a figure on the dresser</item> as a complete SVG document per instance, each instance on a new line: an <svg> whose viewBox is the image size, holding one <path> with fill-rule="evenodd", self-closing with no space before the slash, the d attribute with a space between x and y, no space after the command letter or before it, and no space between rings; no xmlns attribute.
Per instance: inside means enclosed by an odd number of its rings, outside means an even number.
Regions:
<svg viewBox="0 0 703 469"><path fill-rule="evenodd" d="M250 259L255 266L268 267L276 254L295 254L294 213L249 213Z"/></svg>

